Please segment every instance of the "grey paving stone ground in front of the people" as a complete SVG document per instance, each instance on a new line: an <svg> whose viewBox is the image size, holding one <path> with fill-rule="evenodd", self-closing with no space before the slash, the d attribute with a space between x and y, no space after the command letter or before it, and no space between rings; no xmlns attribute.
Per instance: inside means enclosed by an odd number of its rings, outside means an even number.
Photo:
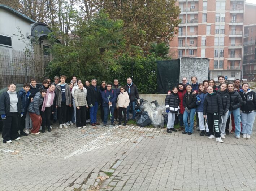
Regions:
<svg viewBox="0 0 256 191"><path fill-rule="evenodd" d="M256 190L256 137L199 133L71 125L22 136L0 143L0 190Z"/></svg>

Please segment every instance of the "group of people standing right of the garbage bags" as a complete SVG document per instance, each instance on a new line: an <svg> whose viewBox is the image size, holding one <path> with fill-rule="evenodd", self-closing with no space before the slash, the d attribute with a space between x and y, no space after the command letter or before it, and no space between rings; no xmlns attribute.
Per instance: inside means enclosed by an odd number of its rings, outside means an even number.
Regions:
<svg viewBox="0 0 256 191"><path fill-rule="evenodd" d="M224 76L218 76L220 85L214 80L198 83L196 76L191 77L192 84L186 77L177 87L168 92L165 98L168 114L167 132L177 131L174 128L175 116L179 115L180 128L183 134L191 135L196 114L196 130L200 135L216 138L223 143L226 134L234 133L235 138L250 139L256 115L256 93L248 83L240 85L240 80L225 83ZM232 130L229 132L230 116Z"/></svg>

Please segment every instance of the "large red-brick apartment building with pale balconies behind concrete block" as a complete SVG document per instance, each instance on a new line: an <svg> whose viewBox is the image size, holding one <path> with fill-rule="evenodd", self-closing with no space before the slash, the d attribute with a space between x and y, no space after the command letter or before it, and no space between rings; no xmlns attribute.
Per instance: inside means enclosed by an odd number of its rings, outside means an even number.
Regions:
<svg viewBox="0 0 256 191"><path fill-rule="evenodd" d="M210 59L210 78L241 77L244 0L177 0L181 9L178 33L170 56Z"/></svg>

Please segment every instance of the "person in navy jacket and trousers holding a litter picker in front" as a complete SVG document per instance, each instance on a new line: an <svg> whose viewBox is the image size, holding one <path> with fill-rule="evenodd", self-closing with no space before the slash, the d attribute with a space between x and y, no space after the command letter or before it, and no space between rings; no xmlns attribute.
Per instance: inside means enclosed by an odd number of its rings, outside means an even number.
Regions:
<svg viewBox="0 0 256 191"><path fill-rule="evenodd" d="M112 117L110 116L111 125L115 126L115 124L114 124L114 109L116 107L116 93L111 88L112 88L112 85L108 84L107 89L101 93L101 97L103 100L102 105L103 105L103 110L104 110L103 126L107 126L109 110L110 110L111 116L112 116Z"/></svg>

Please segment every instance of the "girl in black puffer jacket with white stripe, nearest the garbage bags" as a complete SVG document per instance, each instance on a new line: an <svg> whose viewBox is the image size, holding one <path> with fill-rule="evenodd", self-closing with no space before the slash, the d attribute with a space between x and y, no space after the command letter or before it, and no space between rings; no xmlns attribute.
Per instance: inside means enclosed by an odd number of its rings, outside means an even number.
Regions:
<svg viewBox="0 0 256 191"><path fill-rule="evenodd" d="M179 96L177 87L174 87L171 94L166 96L165 109L168 114L167 132L172 133L172 131L177 131L174 129L175 115L179 112Z"/></svg>

